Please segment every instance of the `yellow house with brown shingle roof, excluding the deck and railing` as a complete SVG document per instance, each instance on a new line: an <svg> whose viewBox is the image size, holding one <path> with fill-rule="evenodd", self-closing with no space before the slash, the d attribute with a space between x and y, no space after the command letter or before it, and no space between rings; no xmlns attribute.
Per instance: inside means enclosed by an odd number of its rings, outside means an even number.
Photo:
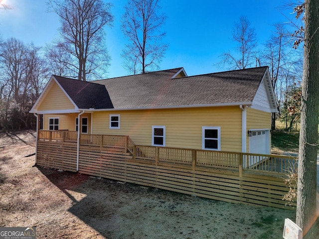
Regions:
<svg viewBox="0 0 319 239"><path fill-rule="evenodd" d="M30 113L43 115L43 130L269 154L276 109L268 67L197 76L176 68L93 82L53 75Z"/></svg>

